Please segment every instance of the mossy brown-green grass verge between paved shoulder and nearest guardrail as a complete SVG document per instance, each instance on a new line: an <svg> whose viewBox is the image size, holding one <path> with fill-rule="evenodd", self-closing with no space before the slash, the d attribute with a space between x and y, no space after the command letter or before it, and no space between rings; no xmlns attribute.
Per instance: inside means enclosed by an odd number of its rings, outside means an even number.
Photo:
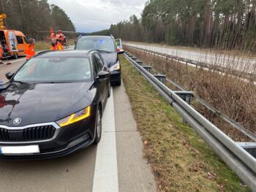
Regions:
<svg viewBox="0 0 256 192"><path fill-rule="evenodd" d="M159 191L248 191L122 56L123 81Z"/></svg>

